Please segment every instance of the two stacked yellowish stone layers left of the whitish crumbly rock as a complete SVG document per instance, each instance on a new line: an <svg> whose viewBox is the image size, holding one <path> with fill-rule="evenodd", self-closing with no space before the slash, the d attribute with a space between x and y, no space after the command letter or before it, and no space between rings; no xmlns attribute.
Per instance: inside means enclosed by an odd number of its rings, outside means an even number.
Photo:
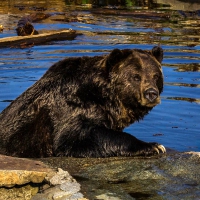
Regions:
<svg viewBox="0 0 200 200"><path fill-rule="evenodd" d="M50 174L42 162L0 155L0 199L31 199Z"/></svg>

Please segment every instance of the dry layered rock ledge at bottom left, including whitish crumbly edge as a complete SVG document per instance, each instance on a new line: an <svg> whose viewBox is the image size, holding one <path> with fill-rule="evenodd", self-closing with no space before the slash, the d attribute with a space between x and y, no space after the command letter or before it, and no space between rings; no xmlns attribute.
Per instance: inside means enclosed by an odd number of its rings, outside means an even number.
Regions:
<svg viewBox="0 0 200 200"><path fill-rule="evenodd" d="M0 155L0 200L8 199L84 198L80 184L67 171L50 169L40 161Z"/></svg>

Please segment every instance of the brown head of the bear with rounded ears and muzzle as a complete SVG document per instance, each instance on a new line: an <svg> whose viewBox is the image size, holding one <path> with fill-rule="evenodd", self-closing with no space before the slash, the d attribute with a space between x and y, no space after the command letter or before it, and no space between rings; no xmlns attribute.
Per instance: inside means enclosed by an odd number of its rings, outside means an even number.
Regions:
<svg viewBox="0 0 200 200"><path fill-rule="evenodd" d="M112 91L126 108L145 106L152 108L160 103L163 90L161 62L163 50L114 49L106 58Z"/></svg>

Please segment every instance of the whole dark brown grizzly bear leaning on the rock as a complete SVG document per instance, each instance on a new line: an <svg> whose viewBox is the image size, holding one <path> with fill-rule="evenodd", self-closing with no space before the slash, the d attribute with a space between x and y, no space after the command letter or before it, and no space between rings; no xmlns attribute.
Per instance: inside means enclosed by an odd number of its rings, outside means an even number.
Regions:
<svg viewBox="0 0 200 200"><path fill-rule="evenodd" d="M0 153L18 157L111 157L164 153L123 132L160 103L163 50L114 49L70 57L0 114Z"/></svg>

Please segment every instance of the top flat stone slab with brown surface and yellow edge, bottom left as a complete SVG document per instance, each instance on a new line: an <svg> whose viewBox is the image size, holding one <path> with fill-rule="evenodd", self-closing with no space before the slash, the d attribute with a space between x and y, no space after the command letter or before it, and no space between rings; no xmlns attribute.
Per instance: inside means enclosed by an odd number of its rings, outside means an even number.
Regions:
<svg viewBox="0 0 200 200"><path fill-rule="evenodd" d="M52 172L40 161L0 155L0 187L41 183Z"/></svg>

